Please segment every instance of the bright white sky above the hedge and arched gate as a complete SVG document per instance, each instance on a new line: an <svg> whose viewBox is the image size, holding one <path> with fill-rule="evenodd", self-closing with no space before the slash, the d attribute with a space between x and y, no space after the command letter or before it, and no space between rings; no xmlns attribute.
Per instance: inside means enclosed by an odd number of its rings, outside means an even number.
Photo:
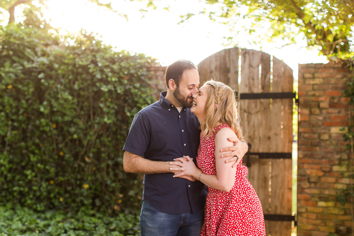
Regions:
<svg viewBox="0 0 354 236"><path fill-rule="evenodd" d="M162 0L158 9L146 8L146 2L113 1L114 10L128 15L129 21L104 7L98 8L87 0L50 0L45 17L50 24L72 33L86 29L102 36L102 40L116 47L116 51L127 50L144 53L159 59L167 66L177 59L187 59L198 64L206 57L230 46L223 46L223 37L229 35L228 29L207 16L196 15L188 22L178 24L179 15L199 12L203 5L198 0ZM170 6L170 11L163 7ZM144 14L144 17L142 17ZM261 30L261 29L260 29ZM238 35L241 39L247 35ZM297 77L298 64L326 63L318 51L308 51L306 42L299 40L295 45L274 49L274 45L262 44L262 51L282 59L294 70ZM259 50L260 46L250 46L246 40L239 47ZM273 48L272 48L273 47Z"/></svg>

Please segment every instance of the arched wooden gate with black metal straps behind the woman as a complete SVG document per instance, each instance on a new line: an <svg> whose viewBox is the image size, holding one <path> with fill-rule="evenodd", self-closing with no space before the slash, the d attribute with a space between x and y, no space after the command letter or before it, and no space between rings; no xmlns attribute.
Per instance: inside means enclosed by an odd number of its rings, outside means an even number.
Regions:
<svg viewBox="0 0 354 236"><path fill-rule="evenodd" d="M255 50L229 48L198 65L200 82L216 79L238 94L250 146L243 159L262 203L267 236L290 236L293 74L284 62Z"/></svg>

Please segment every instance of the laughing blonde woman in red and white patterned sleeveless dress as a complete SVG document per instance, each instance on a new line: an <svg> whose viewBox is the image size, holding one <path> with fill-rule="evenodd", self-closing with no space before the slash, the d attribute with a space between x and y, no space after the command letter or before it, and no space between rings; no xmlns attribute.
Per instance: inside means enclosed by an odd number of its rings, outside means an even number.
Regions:
<svg viewBox="0 0 354 236"><path fill-rule="evenodd" d="M193 95L191 111L199 120L201 133L196 167L189 156L175 159L172 168L182 175L192 176L208 186L205 220L201 235L265 236L261 202L246 179L247 167L242 161L237 168L225 163L219 151L232 145L228 137L243 140L238 123L234 91L222 82L205 82Z"/></svg>

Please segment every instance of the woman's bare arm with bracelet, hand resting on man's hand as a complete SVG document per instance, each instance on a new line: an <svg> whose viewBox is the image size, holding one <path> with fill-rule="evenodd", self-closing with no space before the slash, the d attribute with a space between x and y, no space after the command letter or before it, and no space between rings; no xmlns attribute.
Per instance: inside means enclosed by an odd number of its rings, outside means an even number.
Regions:
<svg viewBox="0 0 354 236"><path fill-rule="evenodd" d="M235 183L236 168L232 168L232 163L225 163L221 158L222 153L220 152L222 147L233 144L227 140L228 137L236 137L236 134L230 128L220 129L215 137L215 163L217 175L201 174L201 170L194 165L194 162L190 157L185 156L177 158L174 162L170 163L172 165L181 166L183 169L181 173L176 174L173 177L190 175L213 189L229 192ZM171 170L177 171L181 169L171 168Z"/></svg>

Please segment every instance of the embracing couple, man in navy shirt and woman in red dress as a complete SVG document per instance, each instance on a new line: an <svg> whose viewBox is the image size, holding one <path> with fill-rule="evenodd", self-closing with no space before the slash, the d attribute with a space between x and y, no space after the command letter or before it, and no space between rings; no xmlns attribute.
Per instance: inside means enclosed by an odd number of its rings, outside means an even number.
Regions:
<svg viewBox="0 0 354 236"><path fill-rule="evenodd" d="M213 80L199 88L185 60L165 79L167 92L137 113L123 148L125 171L144 174L141 235L265 236L233 90Z"/></svg>

